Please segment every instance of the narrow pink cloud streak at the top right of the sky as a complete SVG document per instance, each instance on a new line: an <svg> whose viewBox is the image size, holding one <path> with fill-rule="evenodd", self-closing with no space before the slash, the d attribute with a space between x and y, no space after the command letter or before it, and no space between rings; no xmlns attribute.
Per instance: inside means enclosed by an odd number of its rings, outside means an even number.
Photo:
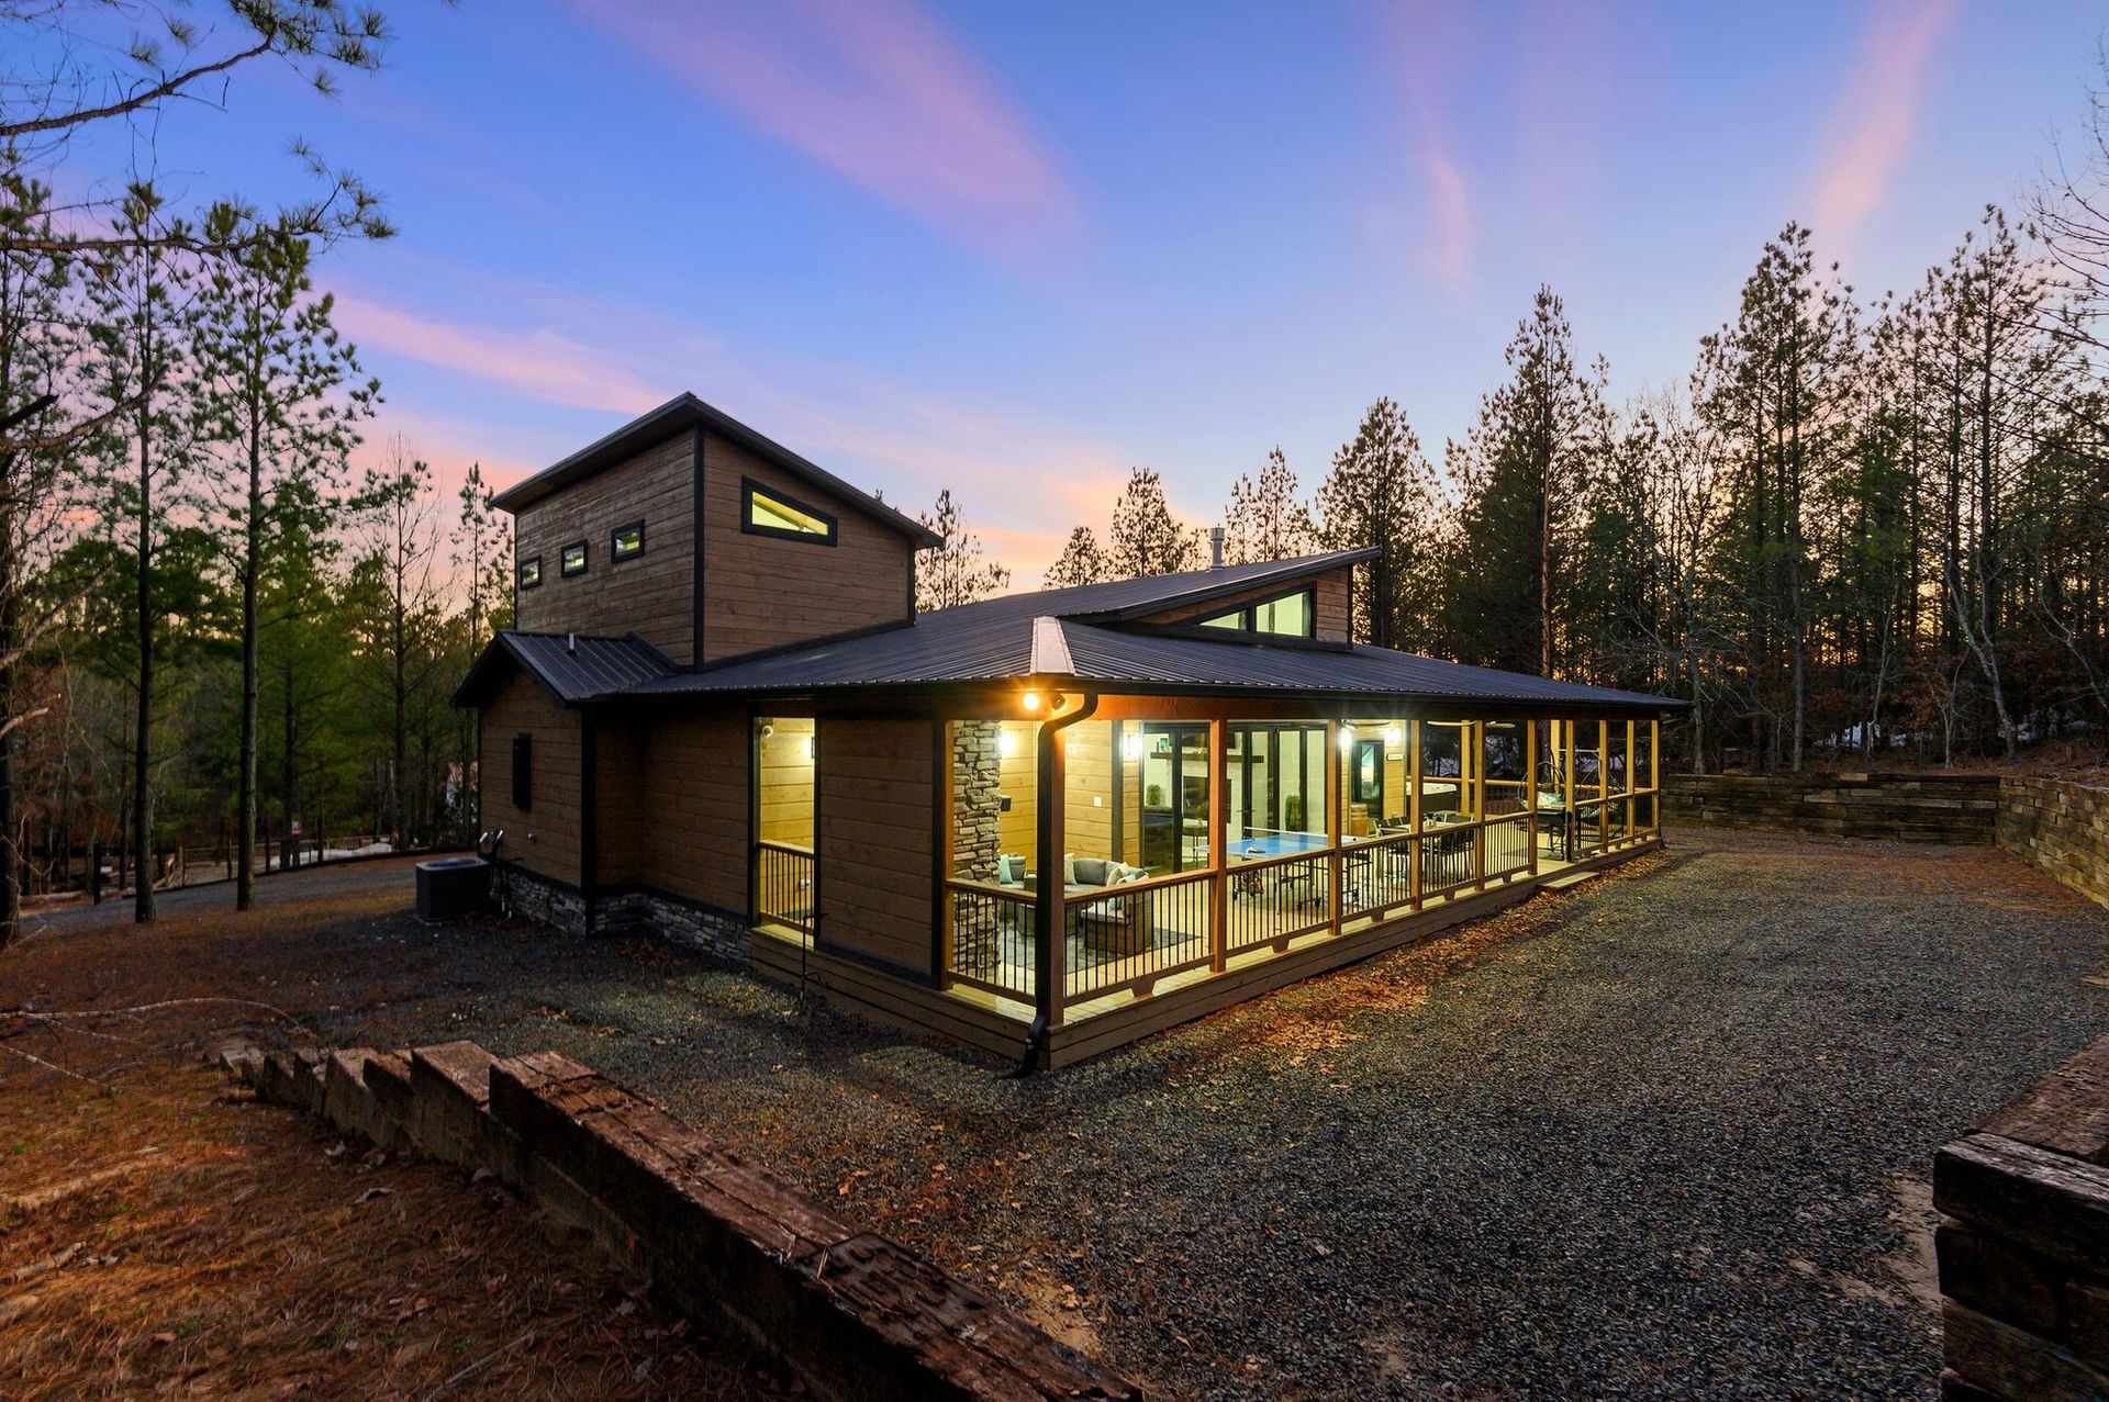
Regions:
<svg viewBox="0 0 2109 1402"><path fill-rule="evenodd" d="M1816 175L1816 234L1850 245L1881 207L1890 175L1911 145L1934 51L1955 19L1955 0L1892 0L1875 11L1837 116L1837 139Z"/></svg>

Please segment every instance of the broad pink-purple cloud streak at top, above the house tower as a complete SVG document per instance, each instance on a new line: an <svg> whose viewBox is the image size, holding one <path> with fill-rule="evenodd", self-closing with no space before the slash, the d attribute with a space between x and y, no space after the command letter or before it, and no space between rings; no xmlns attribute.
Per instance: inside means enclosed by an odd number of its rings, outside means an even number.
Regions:
<svg viewBox="0 0 2109 1402"><path fill-rule="evenodd" d="M915 0L574 0L751 126L939 228L1004 249L1076 223L1052 156Z"/></svg>

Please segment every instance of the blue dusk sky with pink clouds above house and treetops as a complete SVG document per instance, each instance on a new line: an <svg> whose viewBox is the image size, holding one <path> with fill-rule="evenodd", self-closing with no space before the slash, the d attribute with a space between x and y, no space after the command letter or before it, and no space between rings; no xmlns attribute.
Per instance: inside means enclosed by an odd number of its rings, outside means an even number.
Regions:
<svg viewBox="0 0 2109 1402"><path fill-rule="evenodd" d="M1430 455L1544 283L1613 396L1681 384L1763 240L1864 293L2016 202L2105 23L1833 4L388 4L333 99L253 70L167 186L386 196L329 253L375 434L508 485L681 390L1038 582L1130 466L1213 521L1379 394ZM373 455L375 447L367 449Z"/></svg>

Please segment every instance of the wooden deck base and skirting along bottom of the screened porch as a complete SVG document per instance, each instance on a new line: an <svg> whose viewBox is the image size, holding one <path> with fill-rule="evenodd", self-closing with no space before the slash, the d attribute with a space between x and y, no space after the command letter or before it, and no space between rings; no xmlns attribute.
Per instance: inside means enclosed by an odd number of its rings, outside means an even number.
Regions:
<svg viewBox="0 0 2109 1402"><path fill-rule="evenodd" d="M1042 1065L1067 1067L1088 1060L1274 989L1506 911L1540 890L1571 885L1660 845L1660 837L1649 837L1575 862L1544 860L1535 877L1518 875L1489 883L1485 892L1464 890L1407 915L1360 921L1337 936L1329 930L1305 934L1291 940L1282 953L1268 947L1234 955L1221 974L1200 968L1160 978L1147 993L1120 989L1069 1004L1063 1023L1048 1033ZM766 978L804 982L829 1006L890 1027L960 1041L1002 1058L1019 1058L1025 1052L1025 1031L1033 1010L1012 997L966 987L936 989L827 949L810 949L795 932L768 926L755 932L753 966Z"/></svg>

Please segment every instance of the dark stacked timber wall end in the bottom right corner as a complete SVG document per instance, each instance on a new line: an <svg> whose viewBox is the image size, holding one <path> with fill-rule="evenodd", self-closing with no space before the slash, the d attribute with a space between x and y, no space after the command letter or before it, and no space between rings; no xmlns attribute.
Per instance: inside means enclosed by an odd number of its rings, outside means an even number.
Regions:
<svg viewBox="0 0 2109 1402"><path fill-rule="evenodd" d="M2109 1398L2109 1039L1934 1155L1944 1402Z"/></svg>

